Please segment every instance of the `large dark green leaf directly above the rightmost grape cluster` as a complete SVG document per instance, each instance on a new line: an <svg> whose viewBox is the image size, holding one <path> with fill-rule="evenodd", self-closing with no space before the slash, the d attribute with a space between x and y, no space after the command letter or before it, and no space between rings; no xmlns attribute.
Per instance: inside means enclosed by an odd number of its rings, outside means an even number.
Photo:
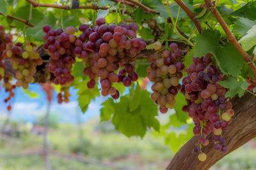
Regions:
<svg viewBox="0 0 256 170"><path fill-rule="evenodd" d="M244 60L230 43L221 46L219 43L220 32L206 29L196 37L195 57L202 57L212 53L223 74L239 76ZM228 63L228 64L227 64Z"/></svg>

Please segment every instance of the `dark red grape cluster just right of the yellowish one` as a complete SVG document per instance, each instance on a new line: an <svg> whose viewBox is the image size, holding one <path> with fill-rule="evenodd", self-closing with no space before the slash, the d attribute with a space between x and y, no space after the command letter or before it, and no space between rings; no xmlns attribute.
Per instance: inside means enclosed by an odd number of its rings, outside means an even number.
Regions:
<svg viewBox="0 0 256 170"><path fill-rule="evenodd" d="M76 62L74 49L77 37L74 36L76 29L72 26L54 31L51 26L44 25L44 50L51 56L49 59L49 71L54 74L54 84L61 87L69 87L74 81L72 66Z"/></svg>

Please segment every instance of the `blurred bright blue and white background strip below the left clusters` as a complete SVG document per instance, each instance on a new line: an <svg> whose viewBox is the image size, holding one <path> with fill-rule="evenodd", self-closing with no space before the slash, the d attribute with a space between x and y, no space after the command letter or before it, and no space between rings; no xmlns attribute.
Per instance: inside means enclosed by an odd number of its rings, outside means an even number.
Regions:
<svg viewBox="0 0 256 170"><path fill-rule="evenodd" d="M38 97L31 98L22 90L15 89L15 97L10 101L12 106L11 118L18 121L35 123L38 117L42 117L47 109L47 99L42 87L36 83L29 84L29 91L36 92ZM77 102L77 90L70 88L70 102L58 104L57 93L54 92L51 104L51 114L58 117L60 122L76 123L76 115L80 114L81 122L86 122L92 117L98 116L100 113L100 104L106 99L105 97L97 97L95 101L89 104L86 113L82 113ZM8 93L3 88L0 89L0 117L8 113L8 104L4 103L4 99L8 97Z"/></svg>

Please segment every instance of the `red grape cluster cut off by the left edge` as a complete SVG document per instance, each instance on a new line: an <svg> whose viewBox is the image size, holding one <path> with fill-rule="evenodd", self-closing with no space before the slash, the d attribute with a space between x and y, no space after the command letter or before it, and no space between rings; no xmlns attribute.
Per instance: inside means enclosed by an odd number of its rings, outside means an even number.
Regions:
<svg viewBox="0 0 256 170"><path fill-rule="evenodd" d="M3 25L0 25L0 81L4 77L5 63L4 58L6 57L6 44L12 43L12 35L4 33ZM2 55L4 53L4 55Z"/></svg>

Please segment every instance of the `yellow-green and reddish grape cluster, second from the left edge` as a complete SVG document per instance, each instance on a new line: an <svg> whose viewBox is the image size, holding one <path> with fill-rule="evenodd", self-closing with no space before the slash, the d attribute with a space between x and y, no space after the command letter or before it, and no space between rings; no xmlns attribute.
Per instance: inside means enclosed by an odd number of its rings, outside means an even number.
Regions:
<svg viewBox="0 0 256 170"><path fill-rule="evenodd" d="M28 89L28 84L34 82L33 75L36 73L36 66L43 63L40 55L36 51L37 46L34 43L26 41L6 45L6 56L10 57L13 69L16 70L16 86Z"/></svg>

